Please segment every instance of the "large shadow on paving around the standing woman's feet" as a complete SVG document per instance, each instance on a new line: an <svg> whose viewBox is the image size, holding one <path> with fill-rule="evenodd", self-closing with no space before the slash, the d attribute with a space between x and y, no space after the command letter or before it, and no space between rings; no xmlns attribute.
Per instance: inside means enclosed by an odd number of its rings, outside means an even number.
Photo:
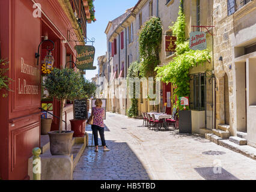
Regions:
<svg viewBox="0 0 256 192"><path fill-rule="evenodd" d="M91 145L92 134L89 136ZM101 145L99 138L99 145ZM145 167L126 142L106 140L106 145L111 151L104 152L99 147L99 152L94 147L85 149L78 165L76 166L74 180L149 180Z"/></svg>

